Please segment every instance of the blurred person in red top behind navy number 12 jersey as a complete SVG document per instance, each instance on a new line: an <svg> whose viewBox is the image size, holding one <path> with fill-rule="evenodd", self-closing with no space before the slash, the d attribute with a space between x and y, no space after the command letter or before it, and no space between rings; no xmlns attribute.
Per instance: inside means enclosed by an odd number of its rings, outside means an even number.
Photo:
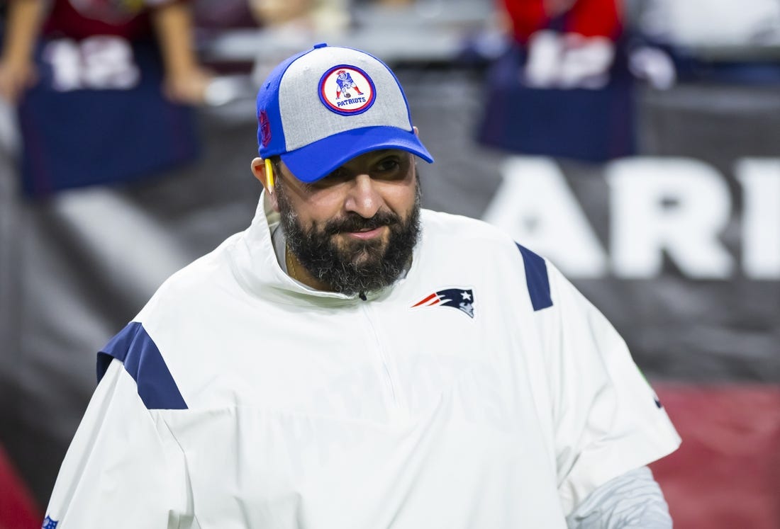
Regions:
<svg viewBox="0 0 780 529"><path fill-rule="evenodd" d="M509 45L488 71L478 140L603 162L636 152L619 0L498 0Z"/></svg>

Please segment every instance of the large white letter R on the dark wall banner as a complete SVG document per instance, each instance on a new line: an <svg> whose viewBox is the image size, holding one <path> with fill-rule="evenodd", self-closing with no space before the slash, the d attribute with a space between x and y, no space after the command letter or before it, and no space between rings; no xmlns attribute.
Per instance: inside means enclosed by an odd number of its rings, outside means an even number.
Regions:
<svg viewBox="0 0 780 529"><path fill-rule="evenodd" d="M695 279L724 279L733 259L718 238L729 222L724 179L697 160L628 158L608 164L612 266L620 277L655 277L667 252Z"/></svg>

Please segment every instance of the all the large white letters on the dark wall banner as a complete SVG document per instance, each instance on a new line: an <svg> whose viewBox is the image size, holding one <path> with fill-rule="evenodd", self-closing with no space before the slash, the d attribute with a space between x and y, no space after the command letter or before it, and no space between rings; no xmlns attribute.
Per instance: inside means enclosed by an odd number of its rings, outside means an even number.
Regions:
<svg viewBox="0 0 780 529"><path fill-rule="evenodd" d="M736 223L742 244L732 250L741 250L745 276L780 279L780 158L738 160L734 172L743 188L741 218L725 177L700 160L634 157L605 164L608 256L550 158L507 158L484 220L570 277L605 277L610 269L615 277L658 277L666 254L686 277L702 280L734 277L737 259L721 237Z"/></svg>

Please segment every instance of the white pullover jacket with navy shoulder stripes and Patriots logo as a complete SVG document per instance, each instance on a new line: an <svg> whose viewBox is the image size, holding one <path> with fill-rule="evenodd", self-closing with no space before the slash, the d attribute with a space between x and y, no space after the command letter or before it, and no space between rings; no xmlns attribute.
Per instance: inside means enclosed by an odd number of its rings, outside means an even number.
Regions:
<svg viewBox="0 0 780 529"><path fill-rule="evenodd" d="M604 316L501 231L424 210L363 301L288 277L263 203L98 354L50 527L554 529L679 445Z"/></svg>

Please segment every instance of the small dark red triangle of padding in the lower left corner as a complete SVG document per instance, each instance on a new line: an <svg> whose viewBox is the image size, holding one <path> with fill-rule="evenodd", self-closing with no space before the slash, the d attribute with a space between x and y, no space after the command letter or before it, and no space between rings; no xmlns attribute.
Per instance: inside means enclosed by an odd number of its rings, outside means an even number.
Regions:
<svg viewBox="0 0 780 529"><path fill-rule="evenodd" d="M38 529L43 518L0 446L0 529Z"/></svg>

